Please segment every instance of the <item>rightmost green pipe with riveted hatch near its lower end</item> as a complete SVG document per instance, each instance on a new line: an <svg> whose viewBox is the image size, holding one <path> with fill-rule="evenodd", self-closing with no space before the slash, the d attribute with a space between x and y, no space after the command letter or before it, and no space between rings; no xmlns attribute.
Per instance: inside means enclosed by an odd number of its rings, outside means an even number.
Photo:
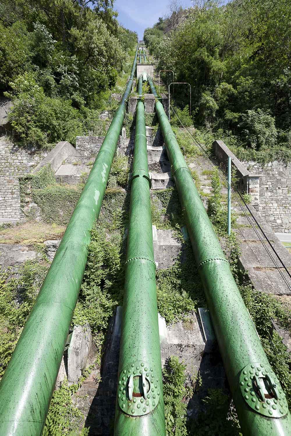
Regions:
<svg viewBox="0 0 291 436"><path fill-rule="evenodd" d="M161 102L155 108L243 435L290 435L291 416L280 381L270 368Z"/></svg>

